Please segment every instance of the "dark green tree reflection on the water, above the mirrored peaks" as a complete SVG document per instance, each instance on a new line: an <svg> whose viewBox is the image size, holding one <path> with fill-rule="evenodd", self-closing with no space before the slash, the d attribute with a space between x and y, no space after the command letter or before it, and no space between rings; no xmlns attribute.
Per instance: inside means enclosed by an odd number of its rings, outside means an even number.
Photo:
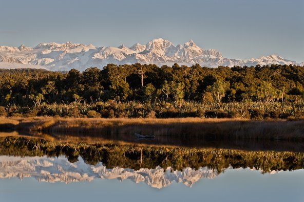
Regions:
<svg viewBox="0 0 304 202"><path fill-rule="evenodd" d="M170 167L172 170L183 170L207 167L221 173L230 166L255 168L263 172L296 170L304 167L302 151L246 151L112 141L90 144L28 137L3 137L0 140L0 155L50 157L65 155L70 163L77 162L81 156L86 164L97 165L102 162L106 168L139 170L160 166L163 169Z"/></svg>

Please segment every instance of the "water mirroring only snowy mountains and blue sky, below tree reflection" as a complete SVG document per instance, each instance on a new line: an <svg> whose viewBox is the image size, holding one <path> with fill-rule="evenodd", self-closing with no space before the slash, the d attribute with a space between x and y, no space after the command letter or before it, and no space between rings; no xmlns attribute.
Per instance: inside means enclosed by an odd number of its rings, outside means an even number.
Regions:
<svg viewBox="0 0 304 202"><path fill-rule="evenodd" d="M0 156L1 201L303 201L304 170L105 168L81 158Z"/></svg>

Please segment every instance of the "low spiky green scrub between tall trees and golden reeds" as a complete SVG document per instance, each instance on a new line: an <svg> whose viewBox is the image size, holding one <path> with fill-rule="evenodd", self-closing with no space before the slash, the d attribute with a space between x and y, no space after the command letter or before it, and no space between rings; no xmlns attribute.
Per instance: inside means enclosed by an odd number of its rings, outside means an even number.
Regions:
<svg viewBox="0 0 304 202"><path fill-rule="evenodd" d="M158 102L106 102L47 104L2 107L0 116L8 117L70 117L70 118L243 118L253 120L304 119L304 105L280 102L230 102L219 104L181 101L179 104ZM1 113L1 107L0 107Z"/></svg>

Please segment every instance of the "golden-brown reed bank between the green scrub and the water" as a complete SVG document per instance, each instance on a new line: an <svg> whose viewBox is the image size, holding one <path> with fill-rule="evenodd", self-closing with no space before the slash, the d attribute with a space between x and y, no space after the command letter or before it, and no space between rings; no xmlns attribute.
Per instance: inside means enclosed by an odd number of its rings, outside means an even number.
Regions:
<svg viewBox="0 0 304 202"><path fill-rule="evenodd" d="M304 121L253 121L246 119L200 118L0 118L2 130L24 132L61 132L94 135L143 135L173 136L176 138L202 138L207 140L256 139L304 140Z"/></svg>

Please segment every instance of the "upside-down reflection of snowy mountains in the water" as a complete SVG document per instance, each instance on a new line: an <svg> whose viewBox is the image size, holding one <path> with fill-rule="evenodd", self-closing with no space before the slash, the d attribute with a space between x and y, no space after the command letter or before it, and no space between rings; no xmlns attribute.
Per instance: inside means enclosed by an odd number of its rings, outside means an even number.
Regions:
<svg viewBox="0 0 304 202"><path fill-rule="evenodd" d="M34 177L39 182L81 182L98 179L130 179L132 182L144 182L153 188L163 188L173 182L183 183L191 187L202 178L214 178L217 170L207 167L192 169L184 168L181 171L166 169L160 166L154 169L141 168L106 168L102 163L97 165L86 164L80 157L78 162L70 163L65 156L58 158L43 157L15 157L0 156L0 178Z"/></svg>

